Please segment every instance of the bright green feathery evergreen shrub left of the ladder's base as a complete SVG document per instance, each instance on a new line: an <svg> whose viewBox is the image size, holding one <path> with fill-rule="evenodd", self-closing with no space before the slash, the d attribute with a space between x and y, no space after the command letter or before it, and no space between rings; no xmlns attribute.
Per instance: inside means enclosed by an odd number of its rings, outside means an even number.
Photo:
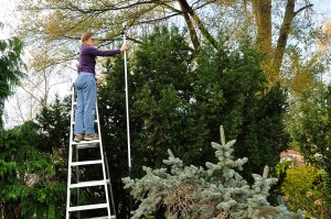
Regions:
<svg viewBox="0 0 331 219"><path fill-rule="evenodd" d="M55 157L43 145L33 122L0 135L0 218L62 218L65 184L58 182Z"/></svg>

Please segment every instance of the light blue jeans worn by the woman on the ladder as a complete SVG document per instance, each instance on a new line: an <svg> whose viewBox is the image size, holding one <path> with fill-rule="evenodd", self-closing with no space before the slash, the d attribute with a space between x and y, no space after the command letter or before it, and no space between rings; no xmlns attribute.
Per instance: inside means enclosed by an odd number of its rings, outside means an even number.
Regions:
<svg viewBox="0 0 331 219"><path fill-rule="evenodd" d="M75 134L94 134L96 108L96 80L92 73L79 73L75 80L77 107L75 112Z"/></svg>

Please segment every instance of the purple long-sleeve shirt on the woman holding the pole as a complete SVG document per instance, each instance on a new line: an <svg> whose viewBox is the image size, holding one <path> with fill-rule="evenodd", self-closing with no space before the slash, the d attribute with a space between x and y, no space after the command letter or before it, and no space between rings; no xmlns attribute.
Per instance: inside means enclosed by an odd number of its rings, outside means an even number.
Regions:
<svg viewBox="0 0 331 219"><path fill-rule="evenodd" d="M96 56L113 56L120 54L120 50L99 51L94 46L82 46L79 53L79 68L78 72L95 74Z"/></svg>

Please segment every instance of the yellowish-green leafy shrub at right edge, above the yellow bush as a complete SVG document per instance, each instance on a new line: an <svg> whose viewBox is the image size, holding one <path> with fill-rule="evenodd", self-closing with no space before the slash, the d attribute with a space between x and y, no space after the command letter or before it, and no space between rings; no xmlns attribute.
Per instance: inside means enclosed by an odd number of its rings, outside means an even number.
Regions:
<svg viewBox="0 0 331 219"><path fill-rule="evenodd" d="M297 114L293 143L307 162L325 172L325 201L331 206L331 85L305 92Z"/></svg>

